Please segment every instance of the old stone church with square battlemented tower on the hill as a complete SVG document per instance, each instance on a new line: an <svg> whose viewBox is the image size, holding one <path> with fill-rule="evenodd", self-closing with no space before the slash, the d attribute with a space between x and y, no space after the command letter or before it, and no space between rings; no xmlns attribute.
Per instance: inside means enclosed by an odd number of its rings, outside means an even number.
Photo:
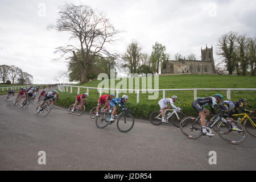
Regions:
<svg viewBox="0 0 256 182"><path fill-rule="evenodd" d="M179 59L168 60L163 65L162 74L168 73L203 73L203 74L214 74L214 60L213 60L213 49L201 48L201 60L185 60Z"/></svg>

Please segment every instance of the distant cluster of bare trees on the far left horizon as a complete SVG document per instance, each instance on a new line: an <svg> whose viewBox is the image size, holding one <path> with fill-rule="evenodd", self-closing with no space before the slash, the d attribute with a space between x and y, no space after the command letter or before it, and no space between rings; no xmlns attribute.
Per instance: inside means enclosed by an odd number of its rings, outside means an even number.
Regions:
<svg viewBox="0 0 256 182"><path fill-rule="evenodd" d="M0 65L0 80L3 84L32 84L33 76L15 65Z"/></svg>

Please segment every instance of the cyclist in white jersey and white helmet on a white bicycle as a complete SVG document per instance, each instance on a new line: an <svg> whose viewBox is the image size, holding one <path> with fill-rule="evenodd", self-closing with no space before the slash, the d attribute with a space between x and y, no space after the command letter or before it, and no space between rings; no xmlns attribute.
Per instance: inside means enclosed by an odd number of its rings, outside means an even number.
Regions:
<svg viewBox="0 0 256 182"><path fill-rule="evenodd" d="M164 118L164 113L166 113L166 109L171 109L170 106L168 106L167 104L171 104L172 108L174 108L177 112L181 111L180 107L176 107L174 105L174 102L177 101L177 96L172 96L172 98L162 98L158 104L160 106L160 109L162 111L162 122L163 123L169 123L168 121L166 121L166 119Z"/></svg>

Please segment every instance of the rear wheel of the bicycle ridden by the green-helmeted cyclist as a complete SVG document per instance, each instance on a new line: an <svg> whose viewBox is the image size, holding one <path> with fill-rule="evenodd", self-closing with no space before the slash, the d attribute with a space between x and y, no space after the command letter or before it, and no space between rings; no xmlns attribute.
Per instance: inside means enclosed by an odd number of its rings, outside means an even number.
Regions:
<svg viewBox="0 0 256 182"><path fill-rule="evenodd" d="M203 136L200 119L185 117L180 122L180 131L189 139L198 139Z"/></svg>

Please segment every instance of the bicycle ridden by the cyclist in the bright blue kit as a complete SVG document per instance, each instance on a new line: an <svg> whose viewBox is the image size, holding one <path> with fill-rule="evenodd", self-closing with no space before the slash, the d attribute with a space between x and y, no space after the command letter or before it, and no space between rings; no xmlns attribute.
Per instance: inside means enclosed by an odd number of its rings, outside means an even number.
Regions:
<svg viewBox="0 0 256 182"><path fill-rule="evenodd" d="M114 121L109 121L110 113L108 111L104 111L99 113L99 116L96 117L96 126L100 129L108 125L112 125ZM133 129L134 126L134 117L131 115L131 111L122 110L121 113L114 116L114 119L117 120L117 129L122 133L126 133Z"/></svg>

